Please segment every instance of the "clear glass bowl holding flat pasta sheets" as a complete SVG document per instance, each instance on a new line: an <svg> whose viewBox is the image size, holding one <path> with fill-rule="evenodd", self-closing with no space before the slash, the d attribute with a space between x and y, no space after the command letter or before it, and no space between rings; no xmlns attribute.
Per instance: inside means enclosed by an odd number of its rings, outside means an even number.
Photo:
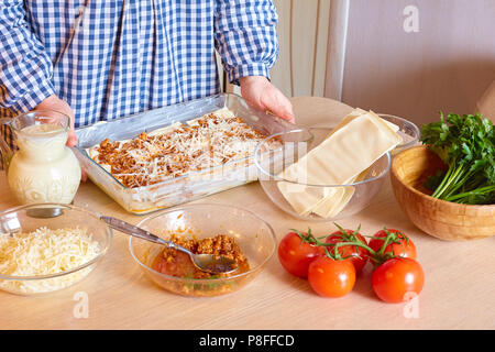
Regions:
<svg viewBox="0 0 495 352"><path fill-rule="evenodd" d="M261 142L254 153L263 190L297 219L324 222L358 213L371 204L389 172L388 151L363 162L360 154L364 151L352 146L352 141L345 143L348 148L318 153L331 132L310 128L276 133ZM271 139L282 140L284 147L266 153L265 143ZM348 152L352 155L342 158L340 153Z"/></svg>

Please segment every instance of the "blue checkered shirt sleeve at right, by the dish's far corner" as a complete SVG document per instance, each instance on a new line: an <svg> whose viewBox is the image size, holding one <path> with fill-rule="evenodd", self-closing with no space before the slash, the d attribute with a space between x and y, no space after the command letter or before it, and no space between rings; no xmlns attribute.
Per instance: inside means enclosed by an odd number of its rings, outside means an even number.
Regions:
<svg viewBox="0 0 495 352"><path fill-rule="evenodd" d="M229 81L265 76L278 56L278 16L271 0L217 0L215 41Z"/></svg>

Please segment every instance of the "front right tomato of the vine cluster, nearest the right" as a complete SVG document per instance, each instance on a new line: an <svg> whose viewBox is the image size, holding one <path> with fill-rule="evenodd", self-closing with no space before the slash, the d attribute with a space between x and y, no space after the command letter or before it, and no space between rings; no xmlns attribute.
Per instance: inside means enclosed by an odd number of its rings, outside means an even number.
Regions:
<svg viewBox="0 0 495 352"><path fill-rule="evenodd" d="M425 284L421 265L408 257L391 258L375 268L372 286L376 296L386 302L402 302L408 295L419 295Z"/></svg>

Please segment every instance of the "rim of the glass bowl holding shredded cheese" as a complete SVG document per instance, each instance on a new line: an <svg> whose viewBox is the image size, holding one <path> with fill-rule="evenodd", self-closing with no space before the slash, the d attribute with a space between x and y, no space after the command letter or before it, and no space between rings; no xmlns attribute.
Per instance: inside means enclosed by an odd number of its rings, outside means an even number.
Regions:
<svg viewBox="0 0 495 352"><path fill-rule="evenodd" d="M38 208L38 207L65 208L65 209L69 209L69 210L81 211L81 212L87 213L90 217L96 218L98 221L101 221L101 223L105 226L105 229L106 229L107 244L106 244L105 249L102 249L92 260L90 260L87 263L81 264L77 267L68 270L68 271L64 271L64 272L59 272L59 273L55 273L55 274L34 275L34 276L33 275L31 275L31 276L11 276L11 275L0 274L0 279L3 279L3 280L37 280L37 279L47 279L47 278L61 277L64 275L73 274L73 273L76 273L80 270L84 270L84 268L97 263L110 249L112 239L113 239L112 229L110 229L110 227L108 227L107 223L105 223L105 221L100 220L100 216L97 212L88 210L82 207L65 205L65 204L57 204L57 202L43 202L43 204L37 202L37 204L30 204L30 205L23 205L23 206L19 206L19 207L9 208L7 210L1 211L0 217L6 216L8 213L19 211L19 210L24 210L24 209L30 209L30 208Z"/></svg>

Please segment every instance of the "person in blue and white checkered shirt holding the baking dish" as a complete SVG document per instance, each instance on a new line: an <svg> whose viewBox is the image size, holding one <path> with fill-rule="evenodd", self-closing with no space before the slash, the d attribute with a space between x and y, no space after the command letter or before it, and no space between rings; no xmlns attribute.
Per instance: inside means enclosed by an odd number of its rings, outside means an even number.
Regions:
<svg viewBox="0 0 495 352"><path fill-rule="evenodd" d="M270 81L276 23L271 0L0 0L0 117L57 110L77 128L211 96L217 51L245 100L294 121Z"/></svg>

